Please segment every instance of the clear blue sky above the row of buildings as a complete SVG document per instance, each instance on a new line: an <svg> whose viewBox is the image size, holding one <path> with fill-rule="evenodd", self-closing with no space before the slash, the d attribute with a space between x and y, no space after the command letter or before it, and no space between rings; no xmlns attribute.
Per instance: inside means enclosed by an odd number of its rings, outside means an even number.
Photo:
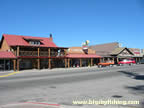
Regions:
<svg viewBox="0 0 144 108"><path fill-rule="evenodd" d="M52 33L60 47L89 40L144 48L144 0L0 0L0 38L4 33Z"/></svg>

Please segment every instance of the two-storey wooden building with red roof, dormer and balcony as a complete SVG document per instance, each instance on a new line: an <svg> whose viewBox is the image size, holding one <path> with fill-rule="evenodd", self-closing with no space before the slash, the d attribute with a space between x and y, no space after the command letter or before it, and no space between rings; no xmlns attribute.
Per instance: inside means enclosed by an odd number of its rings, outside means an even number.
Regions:
<svg viewBox="0 0 144 108"><path fill-rule="evenodd" d="M3 34L0 42L0 67L3 70L64 67L67 48L48 38Z"/></svg>

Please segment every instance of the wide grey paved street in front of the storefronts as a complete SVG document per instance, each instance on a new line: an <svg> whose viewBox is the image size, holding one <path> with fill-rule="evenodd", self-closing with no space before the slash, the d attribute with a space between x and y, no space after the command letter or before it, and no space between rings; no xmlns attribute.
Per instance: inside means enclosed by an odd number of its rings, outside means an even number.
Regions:
<svg viewBox="0 0 144 108"><path fill-rule="evenodd" d="M74 98L115 95L143 101L143 65L34 71L0 78L0 105L35 101L76 107Z"/></svg>

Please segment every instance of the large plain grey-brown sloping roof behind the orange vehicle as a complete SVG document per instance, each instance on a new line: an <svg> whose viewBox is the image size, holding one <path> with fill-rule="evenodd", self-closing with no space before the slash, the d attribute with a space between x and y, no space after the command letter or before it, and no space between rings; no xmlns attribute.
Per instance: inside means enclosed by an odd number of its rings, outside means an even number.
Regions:
<svg viewBox="0 0 144 108"><path fill-rule="evenodd" d="M113 43L105 43L105 44L98 44L98 45L91 45L89 48L96 51L96 54L100 56L109 56L110 53L115 49L119 48L118 42Z"/></svg>

